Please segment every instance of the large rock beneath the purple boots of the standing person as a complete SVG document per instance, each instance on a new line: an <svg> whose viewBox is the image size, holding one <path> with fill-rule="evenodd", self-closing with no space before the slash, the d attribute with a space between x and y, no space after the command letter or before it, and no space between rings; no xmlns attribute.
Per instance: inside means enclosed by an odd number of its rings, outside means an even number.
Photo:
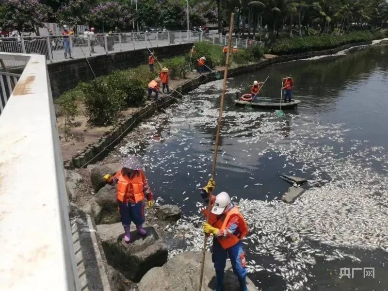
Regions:
<svg viewBox="0 0 388 291"><path fill-rule="evenodd" d="M148 233L142 237L132 224L131 241L126 243L121 223L97 226L108 263L134 282L167 261L167 245L152 226L145 226L145 229Z"/></svg>

